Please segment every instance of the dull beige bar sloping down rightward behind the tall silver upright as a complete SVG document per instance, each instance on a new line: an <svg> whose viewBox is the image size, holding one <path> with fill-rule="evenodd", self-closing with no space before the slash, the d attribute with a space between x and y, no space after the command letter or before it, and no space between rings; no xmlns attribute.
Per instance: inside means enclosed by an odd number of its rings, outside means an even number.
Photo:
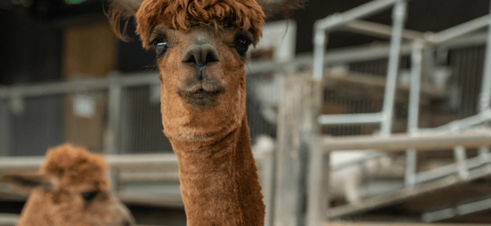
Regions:
<svg viewBox="0 0 491 226"><path fill-rule="evenodd" d="M353 20L348 22L342 29L385 38L389 38L392 35L391 26L363 20ZM401 36L405 39L426 41L424 32L417 30L402 29Z"/></svg>

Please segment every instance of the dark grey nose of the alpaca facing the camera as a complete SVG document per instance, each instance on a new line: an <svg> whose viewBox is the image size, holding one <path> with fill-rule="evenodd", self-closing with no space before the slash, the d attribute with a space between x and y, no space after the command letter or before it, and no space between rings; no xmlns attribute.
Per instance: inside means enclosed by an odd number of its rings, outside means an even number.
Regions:
<svg viewBox="0 0 491 226"><path fill-rule="evenodd" d="M218 52L210 44L191 45L182 54L182 62L194 63L201 68L218 61Z"/></svg>

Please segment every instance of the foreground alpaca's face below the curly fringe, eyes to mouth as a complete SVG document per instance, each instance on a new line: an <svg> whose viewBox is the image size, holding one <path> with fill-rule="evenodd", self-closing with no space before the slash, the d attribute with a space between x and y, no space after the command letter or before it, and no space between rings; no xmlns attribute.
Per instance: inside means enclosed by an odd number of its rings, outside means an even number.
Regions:
<svg viewBox="0 0 491 226"><path fill-rule="evenodd" d="M244 79L236 72L244 67L251 39L250 32L210 26L187 32L161 26L150 34L163 85L175 85L183 104L202 112L217 105L223 94L236 95L230 88Z"/></svg>

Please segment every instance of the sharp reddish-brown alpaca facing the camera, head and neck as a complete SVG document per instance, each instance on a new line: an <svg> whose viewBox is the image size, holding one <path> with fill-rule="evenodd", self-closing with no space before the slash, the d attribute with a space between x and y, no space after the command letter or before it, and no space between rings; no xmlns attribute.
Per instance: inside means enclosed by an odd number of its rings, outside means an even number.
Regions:
<svg viewBox="0 0 491 226"><path fill-rule="evenodd" d="M164 133L179 163L188 226L262 226L265 206L246 120L246 51L272 5L255 0L114 0L157 54ZM123 32L124 33L124 32ZM123 34L124 35L124 34Z"/></svg>

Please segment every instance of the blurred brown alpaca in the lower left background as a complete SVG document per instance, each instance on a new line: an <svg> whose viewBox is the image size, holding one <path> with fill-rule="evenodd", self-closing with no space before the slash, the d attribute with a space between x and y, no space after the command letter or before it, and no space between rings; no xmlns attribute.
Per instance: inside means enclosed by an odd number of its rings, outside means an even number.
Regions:
<svg viewBox="0 0 491 226"><path fill-rule="evenodd" d="M30 192L18 226L131 226L128 209L110 194L104 157L70 144L48 150L37 173L2 180Z"/></svg>

